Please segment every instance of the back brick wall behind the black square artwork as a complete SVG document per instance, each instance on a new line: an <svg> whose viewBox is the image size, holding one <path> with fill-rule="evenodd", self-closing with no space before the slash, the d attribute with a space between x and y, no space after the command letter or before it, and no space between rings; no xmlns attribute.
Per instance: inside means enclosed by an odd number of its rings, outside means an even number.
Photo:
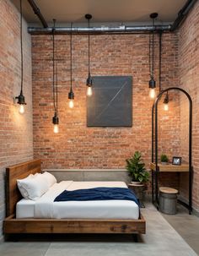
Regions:
<svg viewBox="0 0 199 256"><path fill-rule="evenodd" d="M148 35L91 35L90 38L92 75L132 75L133 77L132 128L86 127L87 35L73 35L75 107L73 110L68 108L69 40L69 35L56 35L60 133L54 134L51 123L54 114L51 35L32 36L35 157L42 159L45 168L124 168L125 159L135 150L141 150L143 159L148 164L151 161L153 104L148 97ZM157 36L156 45L158 45ZM164 34L163 88L178 84L177 50L177 36ZM158 53L157 48L157 57ZM158 68L157 60L156 70ZM178 99L178 96L176 98ZM168 153L169 156L174 154L170 150L170 144L174 146L175 151L178 151L179 146L179 136L176 137L175 132L180 131L180 110L175 105L177 105L176 101L171 101L171 110L160 118L160 125L162 124L160 151ZM160 103L159 107L162 106L163 104Z"/></svg>

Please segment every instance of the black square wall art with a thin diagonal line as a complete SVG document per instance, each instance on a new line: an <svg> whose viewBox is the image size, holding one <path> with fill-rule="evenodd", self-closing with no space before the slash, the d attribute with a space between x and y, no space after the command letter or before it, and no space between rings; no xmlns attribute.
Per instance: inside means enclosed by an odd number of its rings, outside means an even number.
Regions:
<svg viewBox="0 0 199 256"><path fill-rule="evenodd" d="M95 76L87 97L88 127L132 126L132 77Z"/></svg>

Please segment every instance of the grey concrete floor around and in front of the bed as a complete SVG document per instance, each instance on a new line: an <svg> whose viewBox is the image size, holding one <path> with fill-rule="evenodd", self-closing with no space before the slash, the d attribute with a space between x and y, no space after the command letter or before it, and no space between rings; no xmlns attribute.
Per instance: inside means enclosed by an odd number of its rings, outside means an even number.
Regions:
<svg viewBox="0 0 199 256"><path fill-rule="evenodd" d="M131 235L64 235L51 237L46 235L24 238L19 242L2 242L2 256L132 256L132 255L161 255L161 256L191 256L197 255L189 246L193 245L191 237L197 236L196 225L199 219L188 215L183 210L177 215L162 215L152 204L146 204L142 209L147 221L147 233L134 242ZM166 221L168 220L168 221ZM181 221L181 222L180 222ZM170 223L170 224L169 224ZM176 224L178 223L178 224ZM182 225L183 223L183 225ZM183 233L184 239L189 238L189 244L180 237L176 230ZM184 228L183 228L184 226ZM187 226L190 229L187 229ZM198 229L199 230L199 229ZM30 242L30 241L31 242ZM192 244L191 244L192 241ZM195 240L196 241L196 240ZM188 241L187 241L188 242ZM199 243L199 242L198 242ZM196 248L194 248L196 250Z"/></svg>

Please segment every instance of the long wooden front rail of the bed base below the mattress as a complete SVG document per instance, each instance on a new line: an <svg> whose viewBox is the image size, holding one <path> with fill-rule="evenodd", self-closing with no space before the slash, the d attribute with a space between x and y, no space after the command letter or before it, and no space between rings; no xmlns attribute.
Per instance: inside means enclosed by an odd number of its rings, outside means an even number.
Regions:
<svg viewBox="0 0 199 256"><path fill-rule="evenodd" d="M139 220L71 220L71 219L10 219L4 221L9 233L140 233L145 234L146 223Z"/></svg>

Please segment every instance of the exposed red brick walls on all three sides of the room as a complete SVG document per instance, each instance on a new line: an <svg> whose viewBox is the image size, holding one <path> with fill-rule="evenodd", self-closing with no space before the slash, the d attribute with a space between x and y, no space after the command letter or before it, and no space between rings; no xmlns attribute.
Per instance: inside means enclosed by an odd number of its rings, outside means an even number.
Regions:
<svg viewBox="0 0 199 256"><path fill-rule="evenodd" d="M5 215L4 171L11 164L33 157L31 44L24 23L24 95L28 103L20 116L13 96L19 95L19 13L13 4L0 2L0 229ZM199 3L186 19L179 34L163 35L162 87L180 86L193 100L193 205L199 210ZM91 35L92 75L132 75L132 128L87 128L86 85L88 38L73 35L73 90L75 107L67 106L70 84L69 36L56 36L60 133L52 132L52 43L50 35L32 36L34 155L45 168L123 168L125 159L141 150L148 164L151 155L151 106L148 98L148 35ZM158 38L156 36L156 46ZM156 57L158 57L158 50ZM156 74L158 61L156 62ZM157 74L158 80L158 74ZM182 155L187 161L187 101L178 93L169 95L169 112L159 104L159 155ZM162 101L162 100L161 100ZM179 104L180 103L180 104ZM180 105L180 108L179 108ZM177 135L176 135L177 134ZM179 136L180 134L180 136ZM180 147L179 147L180 145ZM175 174L163 174L163 185L179 188ZM180 179L186 194L187 177ZM0 231L1 237L2 231Z"/></svg>

